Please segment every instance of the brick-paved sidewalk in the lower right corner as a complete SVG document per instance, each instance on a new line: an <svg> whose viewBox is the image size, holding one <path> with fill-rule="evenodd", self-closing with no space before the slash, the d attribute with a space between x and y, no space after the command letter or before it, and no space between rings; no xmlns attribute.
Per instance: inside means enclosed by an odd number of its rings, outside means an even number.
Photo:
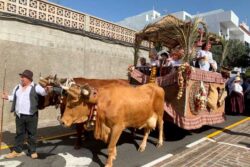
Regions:
<svg viewBox="0 0 250 167"><path fill-rule="evenodd" d="M209 135L200 143L154 165L154 167L249 167L250 117L232 129L213 137Z"/></svg>

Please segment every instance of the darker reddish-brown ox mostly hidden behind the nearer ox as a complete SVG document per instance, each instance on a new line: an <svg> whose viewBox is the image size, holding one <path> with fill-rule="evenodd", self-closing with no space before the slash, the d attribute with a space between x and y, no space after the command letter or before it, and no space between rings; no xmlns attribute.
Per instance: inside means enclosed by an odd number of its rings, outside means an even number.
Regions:
<svg viewBox="0 0 250 167"><path fill-rule="evenodd" d="M118 85L125 85L125 86L129 86L129 82L128 80L123 80L123 79L88 79L88 78L73 78L73 79L58 79L56 76L48 76L46 78L41 78L40 79L40 83L43 86L47 86L47 85L51 85L53 86L53 88L57 89L57 92L59 92L58 89L60 89L60 87L62 85L71 85L73 82L74 84L86 84L88 83L90 86L99 89L103 86L106 86L108 84L118 84ZM62 91L61 91L62 92ZM66 106L66 99L67 99L67 94L59 94L59 93L51 93L50 98L47 98L49 100L46 100L48 104L50 105L59 105L60 104L60 112L61 115L63 115L64 110L65 110L65 106ZM59 99L59 100L58 100ZM46 104L47 104L46 103ZM72 124L72 123L71 123ZM76 125L76 132L77 132L77 139L74 145L75 149L80 149L81 147L81 143L82 143L82 133L84 131L84 125L86 125L84 123L84 121L82 119L77 120L74 122L74 124Z"/></svg>

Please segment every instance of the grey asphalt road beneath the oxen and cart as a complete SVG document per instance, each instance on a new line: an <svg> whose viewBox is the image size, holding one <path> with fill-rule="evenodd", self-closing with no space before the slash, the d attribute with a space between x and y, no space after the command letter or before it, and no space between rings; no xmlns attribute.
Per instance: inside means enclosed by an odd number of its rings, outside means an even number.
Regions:
<svg viewBox="0 0 250 167"><path fill-rule="evenodd" d="M244 119L244 116L227 116L227 121L222 124L213 126L204 126L196 131L185 131L176 127L171 123L165 123L165 141L163 147L157 149L154 142L156 141L157 133L154 132L149 137L147 148L143 153L137 152L137 148L142 139L142 133L138 132L136 137L129 131L125 131L118 143L118 156L114 161L114 166L119 167L137 167L145 165L159 157L166 154L178 154L186 149L186 145L207 136L208 134L221 130L222 128L233 124L239 120ZM54 136L64 131L71 132L72 130L65 130L62 127L50 127L40 129L40 134ZM4 134L5 142L13 140L14 134ZM13 160L3 159L0 157L0 166L25 166L25 167L56 167L56 166L103 166L107 158L106 144L101 141L96 141L90 135L85 140L83 147L80 150L74 150L73 145L75 136L65 136L53 138L50 140L43 140L38 143L39 159L32 160L30 157L22 156ZM7 142L8 143L8 142ZM2 154L8 153L9 150L2 150Z"/></svg>

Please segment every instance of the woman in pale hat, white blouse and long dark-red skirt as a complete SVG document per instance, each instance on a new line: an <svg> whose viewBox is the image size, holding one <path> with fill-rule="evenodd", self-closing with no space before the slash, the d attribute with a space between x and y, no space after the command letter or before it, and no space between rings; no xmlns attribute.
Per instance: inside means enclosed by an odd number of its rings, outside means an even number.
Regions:
<svg viewBox="0 0 250 167"><path fill-rule="evenodd" d="M242 114L244 112L244 95L243 88L240 84L239 76L235 77L234 82L229 86L230 95L230 112L231 114Z"/></svg>

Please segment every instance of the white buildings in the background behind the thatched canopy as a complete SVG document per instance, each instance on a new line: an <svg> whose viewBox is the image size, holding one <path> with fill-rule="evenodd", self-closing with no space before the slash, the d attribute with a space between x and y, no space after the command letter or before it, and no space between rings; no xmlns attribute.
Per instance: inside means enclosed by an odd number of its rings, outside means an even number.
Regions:
<svg viewBox="0 0 250 167"><path fill-rule="evenodd" d="M157 13L157 17L150 17L150 19L148 19L148 15L154 16L155 13ZM225 39L238 39L245 42L248 46L250 44L249 27L244 22L240 23L239 17L232 10L224 11L218 9L195 15L186 11L179 11L171 13L171 15L181 20L192 20L195 17L201 17L207 23L209 32L224 36ZM164 17L164 15L161 16L159 12L151 10L133 17L125 18L118 22L118 24L140 30L147 24L153 23L162 17Z"/></svg>

